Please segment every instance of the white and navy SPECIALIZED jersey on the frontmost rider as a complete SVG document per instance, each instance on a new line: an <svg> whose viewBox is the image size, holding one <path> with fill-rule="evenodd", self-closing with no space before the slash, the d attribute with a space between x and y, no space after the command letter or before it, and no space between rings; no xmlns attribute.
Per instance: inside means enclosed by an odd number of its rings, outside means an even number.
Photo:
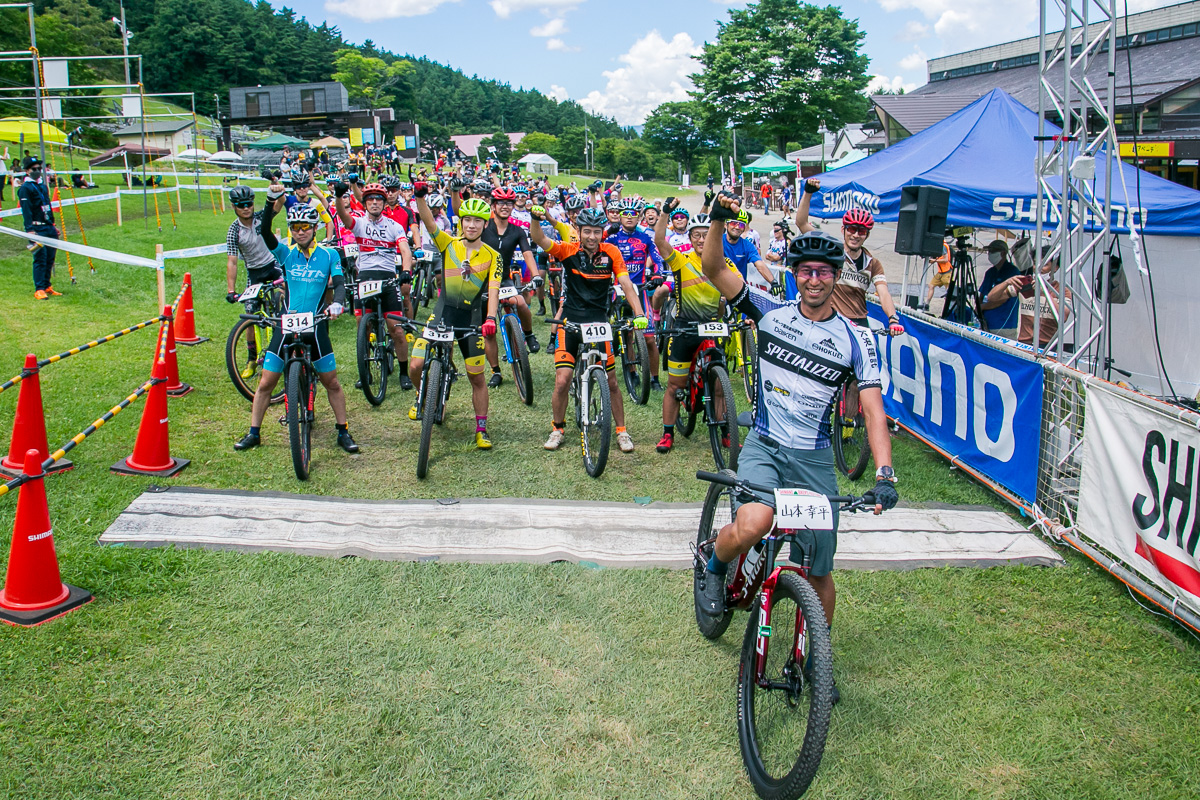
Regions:
<svg viewBox="0 0 1200 800"><path fill-rule="evenodd" d="M871 332L836 312L812 321L796 303L778 303L749 287L733 305L758 326L755 433L797 450L828 447L838 389L852 377L859 390L880 387Z"/></svg>

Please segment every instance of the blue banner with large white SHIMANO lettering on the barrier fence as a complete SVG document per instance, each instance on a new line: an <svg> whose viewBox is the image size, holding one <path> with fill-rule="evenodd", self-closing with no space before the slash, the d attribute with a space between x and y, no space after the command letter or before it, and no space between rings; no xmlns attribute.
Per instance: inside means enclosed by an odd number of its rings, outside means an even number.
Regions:
<svg viewBox="0 0 1200 800"><path fill-rule="evenodd" d="M877 305L868 313L887 324ZM888 416L1033 503L1042 366L908 315L901 321L901 336L876 336Z"/></svg>

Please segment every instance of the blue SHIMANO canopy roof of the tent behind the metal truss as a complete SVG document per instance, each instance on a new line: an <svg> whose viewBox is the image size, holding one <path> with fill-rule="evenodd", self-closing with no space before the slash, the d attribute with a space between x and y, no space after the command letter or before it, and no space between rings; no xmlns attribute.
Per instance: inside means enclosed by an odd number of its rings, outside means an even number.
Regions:
<svg viewBox="0 0 1200 800"><path fill-rule="evenodd" d="M1045 134L1061 128L1045 126ZM1038 115L1012 95L994 89L937 125L821 178L812 198L815 217L840 217L847 209L869 210L895 222L900 188L930 184L950 190L948 219L955 225L1032 230L1038 194L1034 162ZM1049 143L1043 146L1049 148ZM1138 207L1140 173L1142 231L1160 236L1200 235L1200 192L1117 162L1112 176L1114 230L1128 233L1126 209ZM1096 162L1097 197L1104 194L1104 163ZM1045 227L1055 227L1054 209Z"/></svg>

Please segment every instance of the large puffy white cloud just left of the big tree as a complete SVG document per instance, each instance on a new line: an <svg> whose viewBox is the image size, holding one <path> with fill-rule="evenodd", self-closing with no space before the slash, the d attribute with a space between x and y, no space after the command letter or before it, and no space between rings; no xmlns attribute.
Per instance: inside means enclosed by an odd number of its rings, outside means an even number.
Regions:
<svg viewBox="0 0 1200 800"><path fill-rule="evenodd" d="M698 53L688 34L676 34L668 42L652 30L618 56L625 66L604 72L605 90L588 92L580 104L622 125L640 125L660 103L688 100L694 88L688 76L700 66L691 56Z"/></svg>

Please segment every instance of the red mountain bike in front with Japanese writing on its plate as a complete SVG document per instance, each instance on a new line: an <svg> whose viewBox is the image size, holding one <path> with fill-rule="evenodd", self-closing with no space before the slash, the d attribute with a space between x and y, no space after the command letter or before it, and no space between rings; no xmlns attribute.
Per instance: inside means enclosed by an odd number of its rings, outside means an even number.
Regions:
<svg viewBox="0 0 1200 800"><path fill-rule="evenodd" d="M833 510L853 513L875 498L826 497L805 489L756 486L731 470L698 471L709 481L692 546L696 594L716 534L734 518L732 499L751 489L775 498L775 525L748 553L730 564L726 612L708 616L697 604L696 624L718 639L737 608L750 610L738 667L738 741L742 762L760 798L794 799L809 788L821 765L833 711L833 646L821 600L808 582L812 551L797 536L805 529L832 530ZM800 564L776 564L785 543L803 551Z"/></svg>

